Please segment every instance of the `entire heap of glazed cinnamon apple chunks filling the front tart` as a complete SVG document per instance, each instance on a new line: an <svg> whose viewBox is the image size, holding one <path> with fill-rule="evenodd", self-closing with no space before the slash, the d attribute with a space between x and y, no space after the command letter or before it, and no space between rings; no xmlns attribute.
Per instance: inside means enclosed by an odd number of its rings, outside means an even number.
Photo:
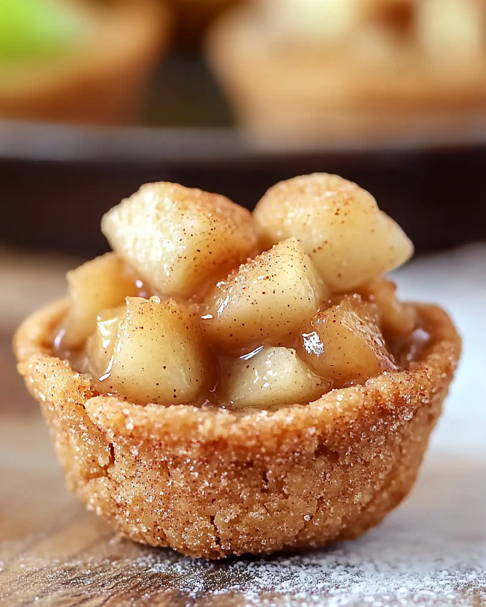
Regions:
<svg viewBox="0 0 486 607"><path fill-rule="evenodd" d="M115 253L68 276L54 347L97 392L275 409L406 367L428 339L382 277L411 244L358 186L295 178L253 215L182 186L144 188L103 220Z"/></svg>

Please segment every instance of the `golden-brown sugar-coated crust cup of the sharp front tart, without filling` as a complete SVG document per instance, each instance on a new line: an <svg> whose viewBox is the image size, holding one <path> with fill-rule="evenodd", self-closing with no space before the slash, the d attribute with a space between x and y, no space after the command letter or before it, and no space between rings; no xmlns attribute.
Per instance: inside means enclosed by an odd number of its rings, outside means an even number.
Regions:
<svg viewBox="0 0 486 607"><path fill-rule="evenodd" d="M308 405L251 415L94 396L50 356L58 302L15 336L69 489L126 537L194 557L323 546L379 523L411 489L453 378L460 337L417 305L433 339L407 371Z"/></svg>

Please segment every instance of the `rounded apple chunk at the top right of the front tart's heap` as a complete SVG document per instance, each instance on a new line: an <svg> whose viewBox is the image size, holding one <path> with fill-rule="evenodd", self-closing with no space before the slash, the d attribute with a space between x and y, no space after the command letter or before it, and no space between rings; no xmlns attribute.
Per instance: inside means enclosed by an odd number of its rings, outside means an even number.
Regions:
<svg viewBox="0 0 486 607"><path fill-rule="evenodd" d="M369 192L337 175L282 181L256 206L264 245L294 236L326 285L346 293L405 262L413 246Z"/></svg>

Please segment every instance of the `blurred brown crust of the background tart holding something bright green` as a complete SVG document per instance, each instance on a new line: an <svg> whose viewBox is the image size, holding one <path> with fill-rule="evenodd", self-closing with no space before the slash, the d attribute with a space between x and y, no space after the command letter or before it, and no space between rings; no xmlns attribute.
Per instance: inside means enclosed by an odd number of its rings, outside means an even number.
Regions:
<svg viewBox="0 0 486 607"><path fill-rule="evenodd" d="M100 13L100 14L98 14ZM69 123L135 120L166 48L162 0L117 0L94 12L86 44L66 56L0 67L0 117ZM105 14L103 14L105 13Z"/></svg>

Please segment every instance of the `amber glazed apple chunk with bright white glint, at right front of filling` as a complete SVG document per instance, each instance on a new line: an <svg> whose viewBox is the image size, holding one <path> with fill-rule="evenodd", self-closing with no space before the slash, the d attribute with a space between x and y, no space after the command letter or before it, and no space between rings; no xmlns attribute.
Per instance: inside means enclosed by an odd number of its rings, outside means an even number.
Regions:
<svg viewBox="0 0 486 607"><path fill-rule="evenodd" d="M361 384L395 367L380 329L358 295L320 312L303 334L298 352L313 370L339 388Z"/></svg>

